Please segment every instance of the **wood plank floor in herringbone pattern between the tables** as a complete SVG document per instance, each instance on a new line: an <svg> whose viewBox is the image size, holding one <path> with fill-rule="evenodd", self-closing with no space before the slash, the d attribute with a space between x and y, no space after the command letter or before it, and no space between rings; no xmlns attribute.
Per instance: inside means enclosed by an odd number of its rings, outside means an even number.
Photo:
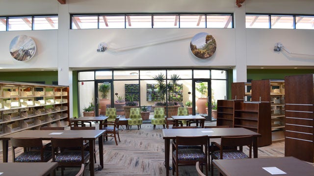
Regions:
<svg viewBox="0 0 314 176"><path fill-rule="evenodd" d="M215 122L206 122L206 125L215 125ZM98 127L98 124L95 124ZM95 171L95 176L165 176L164 167L164 140L162 139L162 126L157 126L153 130L151 124L143 124L140 130L133 126L131 130L120 127L120 139L115 145L113 138L108 138L104 143L104 169ZM278 142L270 146L260 147L259 157L284 156L285 143ZM98 141L96 142L98 151ZM244 152L248 153L247 149ZM2 158L2 154L0 154ZM99 152L97 152L97 163L99 166ZM2 162L2 159L0 159ZM9 162L12 161L11 151L9 151ZM170 162L171 163L171 162ZM312 163L313 164L313 163ZM65 176L75 176L78 168L67 168ZM215 171L215 170L214 170ZM179 167L180 176L197 176L195 166ZM60 170L56 176L60 176ZM88 167L84 176L89 176ZM172 171L170 171L170 176ZM210 175L210 172L209 172ZM218 173L215 172L215 176Z"/></svg>

